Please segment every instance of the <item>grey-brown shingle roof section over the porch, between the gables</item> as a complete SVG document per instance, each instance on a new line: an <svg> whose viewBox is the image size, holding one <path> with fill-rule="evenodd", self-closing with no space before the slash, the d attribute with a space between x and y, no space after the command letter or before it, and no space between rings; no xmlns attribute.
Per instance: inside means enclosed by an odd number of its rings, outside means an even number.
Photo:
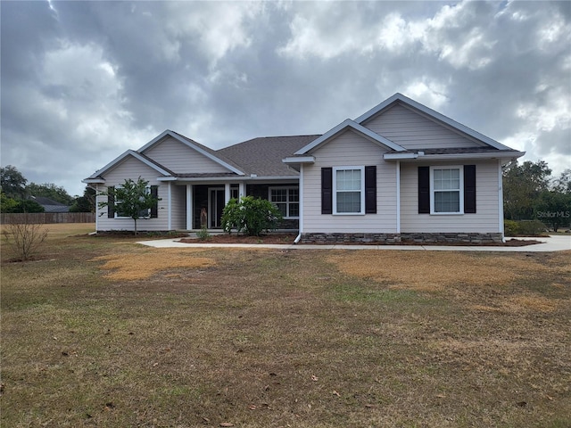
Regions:
<svg viewBox="0 0 571 428"><path fill-rule="evenodd" d="M296 177L299 174L282 162L318 138L314 136L265 136L230 145L215 152L233 160L248 175L259 177Z"/></svg>

